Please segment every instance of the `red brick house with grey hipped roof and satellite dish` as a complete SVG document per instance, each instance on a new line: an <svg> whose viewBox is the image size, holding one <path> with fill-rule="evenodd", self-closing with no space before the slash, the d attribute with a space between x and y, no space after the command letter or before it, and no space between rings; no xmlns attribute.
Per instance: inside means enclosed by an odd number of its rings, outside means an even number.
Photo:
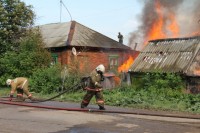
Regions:
<svg viewBox="0 0 200 133"><path fill-rule="evenodd" d="M76 21L41 25L39 29L45 47L52 53L52 62L82 74L91 72L99 64L104 64L107 72L116 74L118 67L139 53ZM109 79L114 77L107 75Z"/></svg>

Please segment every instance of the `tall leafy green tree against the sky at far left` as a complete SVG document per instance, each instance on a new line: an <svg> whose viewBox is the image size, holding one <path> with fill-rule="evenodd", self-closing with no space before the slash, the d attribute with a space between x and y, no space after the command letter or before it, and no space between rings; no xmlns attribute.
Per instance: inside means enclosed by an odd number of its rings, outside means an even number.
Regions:
<svg viewBox="0 0 200 133"><path fill-rule="evenodd" d="M0 0L0 54L18 47L21 37L34 23L32 6L20 0Z"/></svg>

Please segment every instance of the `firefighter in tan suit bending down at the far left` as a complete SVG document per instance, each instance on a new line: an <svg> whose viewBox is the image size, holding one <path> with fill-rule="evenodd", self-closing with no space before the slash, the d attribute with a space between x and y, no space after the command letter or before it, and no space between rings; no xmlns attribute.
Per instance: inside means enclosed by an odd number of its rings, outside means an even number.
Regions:
<svg viewBox="0 0 200 133"><path fill-rule="evenodd" d="M17 99L20 101L24 101L25 98L23 97L23 94L25 93L30 100L34 100L32 97L32 94L29 92L28 88L28 79L24 77L18 77L15 79L7 79L6 84L8 86L11 86L11 91L10 91L10 98L9 101L12 101L13 99L13 94L15 91L17 91Z"/></svg>

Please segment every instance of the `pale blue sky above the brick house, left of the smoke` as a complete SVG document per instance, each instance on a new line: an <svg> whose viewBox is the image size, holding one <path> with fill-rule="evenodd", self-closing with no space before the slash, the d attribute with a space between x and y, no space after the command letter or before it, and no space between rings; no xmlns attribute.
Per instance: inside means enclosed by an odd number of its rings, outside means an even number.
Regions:
<svg viewBox="0 0 200 133"><path fill-rule="evenodd" d="M62 6L60 0L21 1L33 6L35 25L74 20L116 41L121 32L125 45L137 29L142 11L139 0L62 0Z"/></svg>

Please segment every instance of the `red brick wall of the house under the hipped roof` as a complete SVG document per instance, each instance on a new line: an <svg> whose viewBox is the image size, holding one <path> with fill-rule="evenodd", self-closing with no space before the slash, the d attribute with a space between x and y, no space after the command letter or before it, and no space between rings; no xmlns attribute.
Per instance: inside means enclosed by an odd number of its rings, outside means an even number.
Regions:
<svg viewBox="0 0 200 133"><path fill-rule="evenodd" d="M79 51L79 50L77 50ZM91 72L99 64L103 64L106 71L110 70L110 57L114 56L118 58L118 66L121 66L129 56L136 57L138 52L133 50L102 50L93 49L81 51L77 56L73 55L71 49L66 49L60 51L58 54L58 61L64 65L67 64L76 71L81 71L82 73Z"/></svg>

